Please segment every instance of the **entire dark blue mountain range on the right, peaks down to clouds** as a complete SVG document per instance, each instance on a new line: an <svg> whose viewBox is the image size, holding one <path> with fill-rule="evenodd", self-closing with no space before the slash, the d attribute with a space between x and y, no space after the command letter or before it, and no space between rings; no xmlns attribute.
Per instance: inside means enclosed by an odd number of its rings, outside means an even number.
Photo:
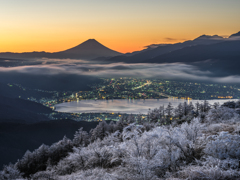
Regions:
<svg viewBox="0 0 240 180"><path fill-rule="evenodd" d="M132 54L115 56L107 61L111 63L184 63L218 76L240 75L240 32L229 38L202 35L192 41L154 46L154 48Z"/></svg>

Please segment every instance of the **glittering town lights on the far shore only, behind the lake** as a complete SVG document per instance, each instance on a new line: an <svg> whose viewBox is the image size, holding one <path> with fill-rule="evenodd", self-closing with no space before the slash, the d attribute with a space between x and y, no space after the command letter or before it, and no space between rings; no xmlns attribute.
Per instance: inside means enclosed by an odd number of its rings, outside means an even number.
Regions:
<svg viewBox="0 0 240 180"><path fill-rule="evenodd" d="M113 78L102 79L92 91L56 92L54 99L40 102L46 106L57 103L97 99L238 99L240 87L236 85L166 81L157 79Z"/></svg>

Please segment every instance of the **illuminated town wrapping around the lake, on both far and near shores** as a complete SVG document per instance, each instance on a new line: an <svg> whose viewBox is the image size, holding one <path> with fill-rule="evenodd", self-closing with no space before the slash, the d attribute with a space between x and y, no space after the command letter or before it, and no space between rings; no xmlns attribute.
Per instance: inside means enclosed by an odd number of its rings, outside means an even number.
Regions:
<svg viewBox="0 0 240 180"><path fill-rule="evenodd" d="M240 86L229 84L195 83L184 81L171 81L162 79L138 78L103 78L98 84L91 86L91 91L45 91L30 90L21 85L8 84L10 87L18 86L22 92L38 91L45 95L41 97L21 97L41 103L54 110L54 105L81 100L111 100L111 99L163 99L176 98L187 100L210 99L239 99ZM118 120L119 113L60 113L54 112L51 119L74 119L77 121ZM134 115L137 117L138 115Z"/></svg>

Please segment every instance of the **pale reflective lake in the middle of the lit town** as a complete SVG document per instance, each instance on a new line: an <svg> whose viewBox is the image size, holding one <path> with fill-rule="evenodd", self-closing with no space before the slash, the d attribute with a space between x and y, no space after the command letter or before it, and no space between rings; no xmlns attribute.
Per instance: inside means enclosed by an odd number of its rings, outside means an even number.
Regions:
<svg viewBox="0 0 240 180"><path fill-rule="evenodd" d="M219 102L220 104L227 101L225 100L208 100L210 104ZM194 105L197 102L203 102L203 100L183 100L183 99L113 99L113 100L81 100L79 102L65 102L55 105L55 110L59 112L68 113L127 113L127 114L147 114L149 109L159 108L164 105L165 107L171 102L173 107L176 107L179 103L190 103Z"/></svg>

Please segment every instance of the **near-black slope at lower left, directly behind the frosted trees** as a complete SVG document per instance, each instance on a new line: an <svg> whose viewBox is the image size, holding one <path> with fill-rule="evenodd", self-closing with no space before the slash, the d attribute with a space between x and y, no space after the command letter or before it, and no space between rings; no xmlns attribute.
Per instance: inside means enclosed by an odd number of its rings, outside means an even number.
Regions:
<svg viewBox="0 0 240 180"><path fill-rule="evenodd" d="M27 150L33 151L42 144L51 145L64 136L72 139L74 133L81 127L89 132L97 124L97 122L73 120L53 120L33 124L0 123L0 166L16 162Z"/></svg>

